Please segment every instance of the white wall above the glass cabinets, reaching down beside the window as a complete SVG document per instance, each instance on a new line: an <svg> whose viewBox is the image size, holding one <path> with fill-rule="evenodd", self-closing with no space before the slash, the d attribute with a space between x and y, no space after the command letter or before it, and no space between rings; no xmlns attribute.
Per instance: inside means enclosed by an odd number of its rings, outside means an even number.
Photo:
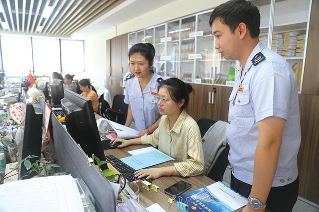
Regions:
<svg viewBox="0 0 319 212"><path fill-rule="evenodd" d="M176 0L116 27L85 39L85 70L91 82L104 86L106 80L106 40L128 32L158 25L171 19L214 8L226 0ZM125 15L125 14L124 14Z"/></svg>

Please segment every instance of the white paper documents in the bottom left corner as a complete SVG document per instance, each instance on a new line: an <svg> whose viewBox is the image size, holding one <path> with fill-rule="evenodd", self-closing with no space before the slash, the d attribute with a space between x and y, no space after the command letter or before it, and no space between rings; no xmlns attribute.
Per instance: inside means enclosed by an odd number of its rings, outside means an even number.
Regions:
<svg viewBox="0 0 319 212"><path fill-rule="evenodd" d="M71 175L20 180L0 185L1 212L84 212Z"/></svg>

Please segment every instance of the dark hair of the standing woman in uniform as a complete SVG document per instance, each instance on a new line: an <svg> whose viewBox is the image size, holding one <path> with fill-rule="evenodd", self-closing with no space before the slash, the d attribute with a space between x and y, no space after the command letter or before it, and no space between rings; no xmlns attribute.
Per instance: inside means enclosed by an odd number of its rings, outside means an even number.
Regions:
<svg viewBox="0 0 319 212"><path fill-rule="evenodd" d="M149 61L150 71L154 73L152 62L154 61L154 57L155 57L155 48L151 43L135 44L129 50L129 59L133 54L143 55Z"/></svg>

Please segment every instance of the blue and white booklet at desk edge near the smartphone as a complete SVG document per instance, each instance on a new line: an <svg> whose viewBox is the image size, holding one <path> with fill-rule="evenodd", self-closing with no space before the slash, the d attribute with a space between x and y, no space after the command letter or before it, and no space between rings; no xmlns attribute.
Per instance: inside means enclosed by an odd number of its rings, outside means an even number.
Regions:
<svg viewBox="0 0 319 212"><path fill-rule="evenodd" d="M176 201L188 206L189 212L232 212L247 205L247 199L222 182L179 195Z"/></svg>

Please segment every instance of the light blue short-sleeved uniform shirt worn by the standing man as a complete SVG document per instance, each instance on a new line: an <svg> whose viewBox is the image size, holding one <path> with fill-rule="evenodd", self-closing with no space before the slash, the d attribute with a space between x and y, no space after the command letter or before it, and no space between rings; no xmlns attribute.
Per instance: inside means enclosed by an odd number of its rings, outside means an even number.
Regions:
<svg viewBox="0 0 319 212"><path fill-rule="evenodd" d="M252 59L261 52L266 59L256 66ZM277 53L256 45L241 75L237 72L229 98L229 120L226 138L233 175L253 183L254 157L259 139L257 121L269 116L286 120L276 176L272 187L285 186L298 177L297 154L301 141L298 92L295 75L289 63ZM243 91L238 92L242 84Z"/></svg>

